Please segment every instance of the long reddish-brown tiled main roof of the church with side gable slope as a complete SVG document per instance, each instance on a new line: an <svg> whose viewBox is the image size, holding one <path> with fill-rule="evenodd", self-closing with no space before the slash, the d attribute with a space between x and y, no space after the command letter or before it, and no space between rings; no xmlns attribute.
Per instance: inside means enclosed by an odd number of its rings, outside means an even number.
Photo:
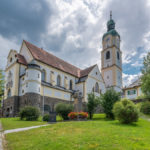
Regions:
<svg viewBox="0 0 150 150"><path fill-rule="evenodd" d="M54 68L57 68L63 72L69 73L76 77L87 76L90 73L90 71L96 66L96 65L94 65L94 66L88 67L84 70L81 70L80 68L78 68L72 64L69 64L68 62L54 56L51 53L44 51L43 49L29 43L28 41L24 40L24 42L25 42L27 48L29 49L29 51L31 52L34 59L36 59L40 62L43 62L47 65L50 65Z"/></svg>

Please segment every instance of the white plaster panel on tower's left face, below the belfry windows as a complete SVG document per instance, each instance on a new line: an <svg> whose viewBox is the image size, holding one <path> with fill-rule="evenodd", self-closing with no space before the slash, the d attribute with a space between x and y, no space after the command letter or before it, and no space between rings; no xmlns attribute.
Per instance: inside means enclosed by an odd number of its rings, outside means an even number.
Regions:
<svg viewBox="0 0 150 150"><path fill-rule="evenodd" d="M104 81L106 84L106 87L113 85L113 72L112 70L108 70L104 72Z"/></svg>

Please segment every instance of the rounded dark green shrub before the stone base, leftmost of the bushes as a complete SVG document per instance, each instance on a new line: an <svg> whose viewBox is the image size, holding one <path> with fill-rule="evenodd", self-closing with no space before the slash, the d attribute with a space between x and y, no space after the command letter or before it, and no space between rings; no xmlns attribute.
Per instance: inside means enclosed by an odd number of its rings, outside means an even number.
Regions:
<svg viewBox="0 0 150 150"><path fill-rule="evenodd" d="M26 106L23 109L21 109L19 116L21 120L25 119L27 121L33 121L38 120L40 112L39 109L36 107Z"/></svg>

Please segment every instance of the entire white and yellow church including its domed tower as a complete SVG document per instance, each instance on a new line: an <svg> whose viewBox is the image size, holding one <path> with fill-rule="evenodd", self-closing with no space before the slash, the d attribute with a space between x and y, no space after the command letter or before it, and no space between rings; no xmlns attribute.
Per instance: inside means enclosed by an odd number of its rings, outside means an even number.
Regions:
<svg viewBox="0 0 150 150"><path fill-rule="evenodd" d="M122 52L120 35L110 15L102 37L101 72L95 64L80 69L23 40L19 53L10 50L5 69L3 116L16 116L25 106L41 112L54 111L59 102L87 103L88 94L96 96L113 87L122 91Z"/></svg>

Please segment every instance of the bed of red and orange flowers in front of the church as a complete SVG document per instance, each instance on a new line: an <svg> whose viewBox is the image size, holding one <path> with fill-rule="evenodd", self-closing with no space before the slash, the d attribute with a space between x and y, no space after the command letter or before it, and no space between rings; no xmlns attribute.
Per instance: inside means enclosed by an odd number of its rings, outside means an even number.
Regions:
<svg viewBox="0 0 150 150"><path fill-rule="evenodd" d="M85 120L88 117L87 112L70 112L68 114L70 120Z"/></svg>

